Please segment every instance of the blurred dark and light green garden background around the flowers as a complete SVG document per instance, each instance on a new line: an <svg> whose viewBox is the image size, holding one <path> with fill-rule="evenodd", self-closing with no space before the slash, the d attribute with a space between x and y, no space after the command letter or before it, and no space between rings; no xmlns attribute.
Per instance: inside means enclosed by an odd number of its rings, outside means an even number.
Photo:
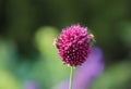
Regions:
<svg viewBox="0 0 131 89"><path fill-rule="evenodd" d="M53 38L80 23L104 51L93 89L131 89L131 0L0 0L0 89L51 89L69 76Z"/></svg>

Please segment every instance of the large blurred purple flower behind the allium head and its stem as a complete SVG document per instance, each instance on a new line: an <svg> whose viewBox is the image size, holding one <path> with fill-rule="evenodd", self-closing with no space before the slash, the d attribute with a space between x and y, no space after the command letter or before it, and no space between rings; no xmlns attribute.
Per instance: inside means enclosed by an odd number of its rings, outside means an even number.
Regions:
<svg viewBox="0 0 131 89"><path fill-rule="evenodd" d="M92 82L104 71L103 52L99 48L93 48L87 61L78 67L73 78L73 89L90 89ZM69 79L62 81L55 89L68 89Z"/></svg>

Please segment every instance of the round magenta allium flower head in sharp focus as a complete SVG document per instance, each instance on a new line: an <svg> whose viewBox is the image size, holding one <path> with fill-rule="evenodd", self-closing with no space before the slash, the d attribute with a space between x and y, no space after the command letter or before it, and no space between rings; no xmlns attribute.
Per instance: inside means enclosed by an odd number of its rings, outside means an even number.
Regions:
<svg viewBox="0 0 131 89"><path fill-rule="evenodd" d="M87 34L86 27L78 24L63 28L56 40L56 47L63 64L78 66L84 63L91 53L92 41L93 35Z"/></svg>

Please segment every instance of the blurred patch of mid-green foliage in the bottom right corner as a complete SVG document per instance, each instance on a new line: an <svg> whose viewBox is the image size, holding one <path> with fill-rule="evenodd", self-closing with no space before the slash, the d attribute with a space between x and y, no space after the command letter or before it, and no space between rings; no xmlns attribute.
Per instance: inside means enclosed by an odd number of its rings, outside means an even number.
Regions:
<svg viewBox="0 0 131 89"><path fill-rule="evenodd" d="M93 84L92 89L124 89L131 78L129 62L112 65Z"/></svg>

